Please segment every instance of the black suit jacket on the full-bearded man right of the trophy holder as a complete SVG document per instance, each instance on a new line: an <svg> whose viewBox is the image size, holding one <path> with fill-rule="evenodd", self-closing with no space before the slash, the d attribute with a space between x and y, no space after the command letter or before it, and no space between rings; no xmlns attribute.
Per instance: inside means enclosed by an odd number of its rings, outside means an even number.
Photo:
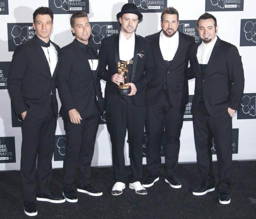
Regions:
<svg viewBox="0 0 256 219"><path fill-rule="evenodd" d="M167 81L167 90L173 107L185 107L188 103L188 63L190 50L195 43L192 36L179 32L179 45L169 66L163 60L159 46L160 32L146 36L152 42L154 71L156 76L147 87L147 105L155 105Z"/></svg>

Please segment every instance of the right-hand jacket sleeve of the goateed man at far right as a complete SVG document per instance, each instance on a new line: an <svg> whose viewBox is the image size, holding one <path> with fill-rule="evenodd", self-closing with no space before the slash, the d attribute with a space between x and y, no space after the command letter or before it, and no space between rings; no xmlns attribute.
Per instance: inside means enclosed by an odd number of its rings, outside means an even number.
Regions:
<svg viewBox="0 0 256 219"><path fill-rule="evenodd" d="M238 49L233 45L228 51L226 65L229 79L232 82L229 107L237 110L244 92L244 69Z"/></svg>

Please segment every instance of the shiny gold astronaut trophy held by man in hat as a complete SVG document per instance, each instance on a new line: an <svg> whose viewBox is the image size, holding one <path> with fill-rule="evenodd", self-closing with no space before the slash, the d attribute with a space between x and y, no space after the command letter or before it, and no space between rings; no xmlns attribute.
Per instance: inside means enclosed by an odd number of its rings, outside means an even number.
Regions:
<svg viewBox="0 0 256 219"><path fill-rule="evenodd" d="M125 75L128 74L128 69L126 68L127 64L132 64L132 60L130 61L125 61L125 62L121 62L118 61L117 62L117 67L118 67L118 74L121 75L124 78L124 82L125 82ZM120 83L120 85L118 85L118 93L120 95L127 95L131 93L131 86L130 85L125 85L125 83Z"/></svg>

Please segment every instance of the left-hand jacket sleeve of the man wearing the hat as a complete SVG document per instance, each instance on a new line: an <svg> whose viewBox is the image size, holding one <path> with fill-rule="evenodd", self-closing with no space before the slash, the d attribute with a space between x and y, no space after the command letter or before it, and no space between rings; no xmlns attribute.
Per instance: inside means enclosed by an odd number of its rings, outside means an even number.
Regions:
<svg viewBox="0 0 256 219"><path fill-rule="evenodd" d="M106 82L111 82L113 73L106 69L107 66L107 50L105 46L105 40L102 41L102 45L99 49L99 70L98 77L102 78Z"/></svg>

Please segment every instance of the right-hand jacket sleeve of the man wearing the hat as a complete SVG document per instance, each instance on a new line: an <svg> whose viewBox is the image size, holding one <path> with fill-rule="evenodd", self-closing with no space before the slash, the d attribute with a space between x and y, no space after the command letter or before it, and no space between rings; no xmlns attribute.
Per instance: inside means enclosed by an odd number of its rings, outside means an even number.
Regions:
<svg viewBox="0 0 256 219"><path fill-rule="evenodd" d="M153 80L155 76L154 72L154 57L151 44L149 44L145 52L145 68L143 76L134 82L134 85L137 88L137 91L146 88L146 86Z"/></svg>

